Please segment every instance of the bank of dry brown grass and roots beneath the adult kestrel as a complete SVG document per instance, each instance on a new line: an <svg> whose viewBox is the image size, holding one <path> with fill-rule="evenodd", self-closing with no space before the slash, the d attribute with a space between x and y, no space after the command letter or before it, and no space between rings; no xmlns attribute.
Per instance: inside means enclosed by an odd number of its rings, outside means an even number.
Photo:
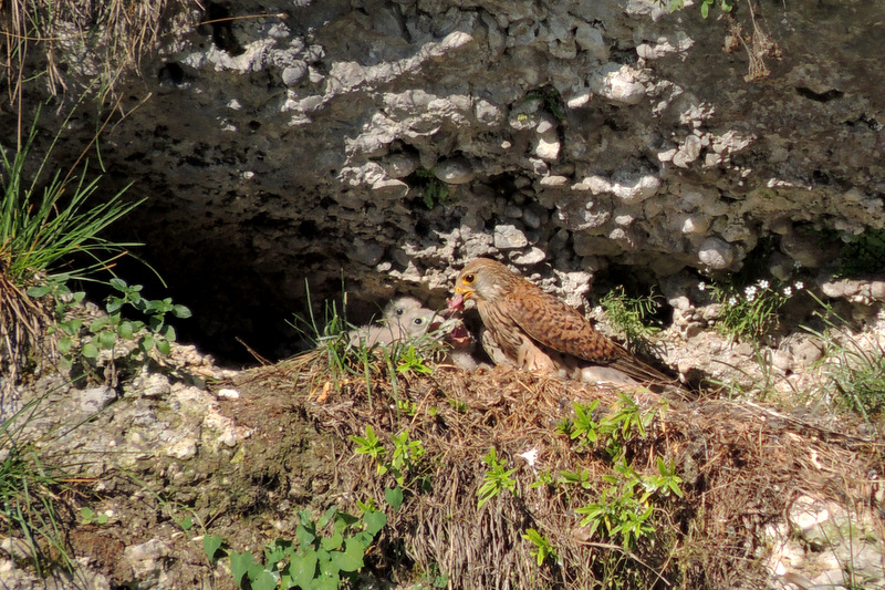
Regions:
<svg viewBox="0 0 885 590"><path fill-rule="evenodd" d="M795 497L868 504L867 474L883 473L882 446L847 427L837 434L715 397L626 392L646 427L592 444L560 425L575 418L575 402L587 407L594 400L593 416L604 421L624 407L622 392L504 368L397 373L383 359L335 376L322 351L247 379L291 395L319 428L354 449L336 467L340 497L385 506L386 489L404 489L397 511L385 507L388 526L369 562L441 572L449 588L762 588L771 577L763 530L784 520ZM366 426L387 459L394 436L408 431L409 441L420 441L424 456L399 474L402 486L395 473L379 475L378 459L355 453L352 436ZM610 448L615 439L618 458ZM480 506L490 448L514 469L516 485ZM650 510L644 531L632 539L614 532L618 510L636 510L617 465L650 479L660 474L658 459L675 467L681 497L654 491L641 505ZM563 483L563 472L581 477ZM636 487L633 499L643 494ZM582 508L593 504L611 513L595 528L582 525ZM551 551L539 558L530 529Z"/></svg>

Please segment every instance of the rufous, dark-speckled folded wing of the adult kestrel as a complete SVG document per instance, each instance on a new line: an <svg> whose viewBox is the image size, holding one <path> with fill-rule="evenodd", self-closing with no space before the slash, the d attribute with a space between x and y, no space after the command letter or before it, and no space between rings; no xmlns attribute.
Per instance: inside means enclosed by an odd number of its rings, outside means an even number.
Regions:
<svg viewBox="0 0 885 590"><path fill-rule="evenodd" d="M528 281L501 298L499 304L527 335L554 351L603 363L628 355L576 309Z"/></svg>

